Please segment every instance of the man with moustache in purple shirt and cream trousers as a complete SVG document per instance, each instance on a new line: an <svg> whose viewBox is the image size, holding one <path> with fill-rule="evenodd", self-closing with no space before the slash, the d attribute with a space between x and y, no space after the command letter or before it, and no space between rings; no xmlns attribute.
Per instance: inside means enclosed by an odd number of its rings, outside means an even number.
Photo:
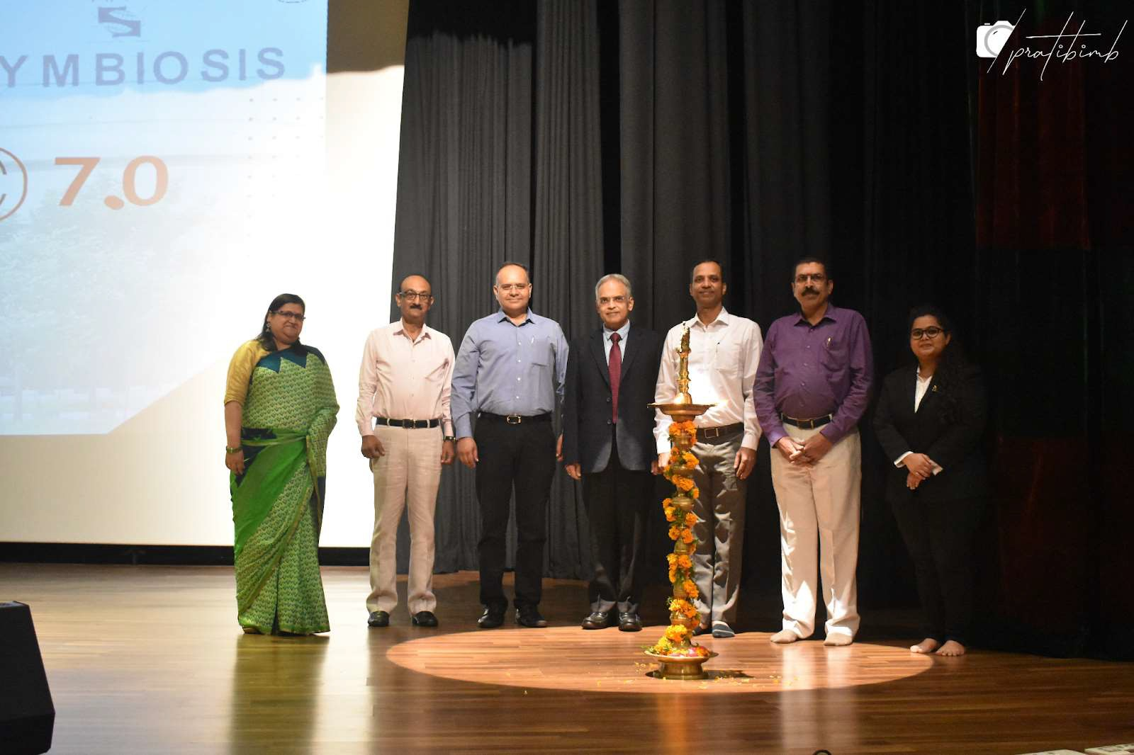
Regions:
<svg viewBox="0 0 1134 755"><path fill-rule="evenodd" d="M814 631L820 570L824 644L849 645L858 630L857 425L873 364L866 322L828 300L833 288L822 261L796 263L792 292L799 312L768 329L756 368L756 416L772 447L780 512L784 628L771 636L779 644Z"/></svg>

